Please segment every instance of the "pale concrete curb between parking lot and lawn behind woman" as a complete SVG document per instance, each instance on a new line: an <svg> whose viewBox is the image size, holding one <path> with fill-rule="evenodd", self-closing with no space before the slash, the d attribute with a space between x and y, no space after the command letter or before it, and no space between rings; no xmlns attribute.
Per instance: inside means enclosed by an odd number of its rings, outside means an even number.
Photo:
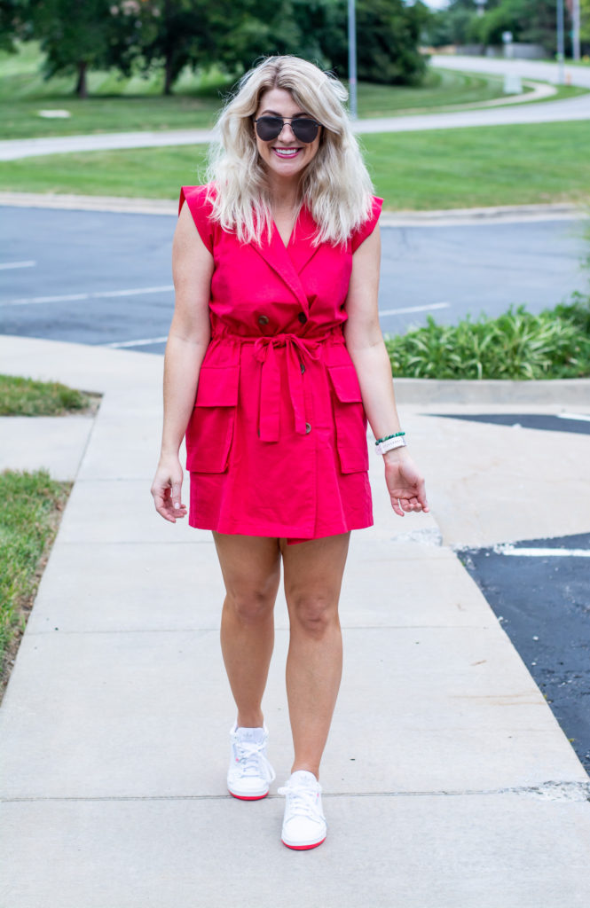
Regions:
<svg viewBox="0 0 590 908"><path fill-rule="evenodd" d="M176 214L171 199L140 199L115 195L73 195L42 192L0 192L0 205L14 208L54 208L70 211L121 214ZM588 202L555 202L542 205L494 205L488 208L449 208L430 212L383 212L382 227L447 226L449 224L575 221L590 217Z"/></svg>

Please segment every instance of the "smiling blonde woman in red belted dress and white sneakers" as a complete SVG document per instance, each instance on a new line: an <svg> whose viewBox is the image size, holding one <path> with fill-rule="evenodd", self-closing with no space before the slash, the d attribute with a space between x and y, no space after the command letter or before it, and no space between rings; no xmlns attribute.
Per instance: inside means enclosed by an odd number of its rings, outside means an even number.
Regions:
<svg viewBox="0 0 590 908"><path fill-rule="evenodd" d="M221 644L237 707L227 785L244 800L275 778L261 703L283 564L295 759L279 789L282 841L302 850L326 834L318 776L342 671L348 539L373 522L366 418L395 513L428 510L379 329L381 200L345 97L313 64L265 59L221 115L211 182L181 192L152 488L162 517L185 517L185 435L189 524L213 530L225 582Z"/></svg>

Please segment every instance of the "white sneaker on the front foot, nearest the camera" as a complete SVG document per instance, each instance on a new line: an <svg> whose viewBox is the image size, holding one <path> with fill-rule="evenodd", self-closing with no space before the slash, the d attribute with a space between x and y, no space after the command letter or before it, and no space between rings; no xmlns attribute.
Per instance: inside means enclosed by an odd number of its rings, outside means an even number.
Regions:
<svg viewBox="0 0 590 908"><path fill-rule="evenodd" d="M322 813L322 786L315 775L298 769L278 793L285 795L283 844L295 851L306 851L321 845L325 840L327 824Z"/></svg>

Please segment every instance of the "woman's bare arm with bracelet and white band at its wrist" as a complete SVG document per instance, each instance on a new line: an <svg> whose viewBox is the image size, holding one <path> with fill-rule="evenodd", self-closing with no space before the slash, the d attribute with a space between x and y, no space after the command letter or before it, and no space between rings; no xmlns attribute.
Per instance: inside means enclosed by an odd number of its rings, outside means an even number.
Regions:
<svg viewBox="0 0 590 908"><path fill-rule="evenodd" d="M380 260L381 238L376 227L353 256L345 323L346 347L355 363L366 416L376 439L400 431L391 365L379 325ZM405 511L427 511L424 479L407 449L387 451L384 461L395 513L403 517Z"/></svg>

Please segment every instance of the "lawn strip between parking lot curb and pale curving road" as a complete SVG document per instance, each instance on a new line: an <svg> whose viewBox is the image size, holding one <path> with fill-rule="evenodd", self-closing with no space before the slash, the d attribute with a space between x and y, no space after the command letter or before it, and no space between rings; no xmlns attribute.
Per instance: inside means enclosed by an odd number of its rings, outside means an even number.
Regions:
<svg viewBox="0 0 590 908"><path fill-rule="evenodd" d="M390 210L587 202L590 123L485 126L362 137ZM203 179L205 146L58 154L0 163L0 189L177 197Z"/></svg>

